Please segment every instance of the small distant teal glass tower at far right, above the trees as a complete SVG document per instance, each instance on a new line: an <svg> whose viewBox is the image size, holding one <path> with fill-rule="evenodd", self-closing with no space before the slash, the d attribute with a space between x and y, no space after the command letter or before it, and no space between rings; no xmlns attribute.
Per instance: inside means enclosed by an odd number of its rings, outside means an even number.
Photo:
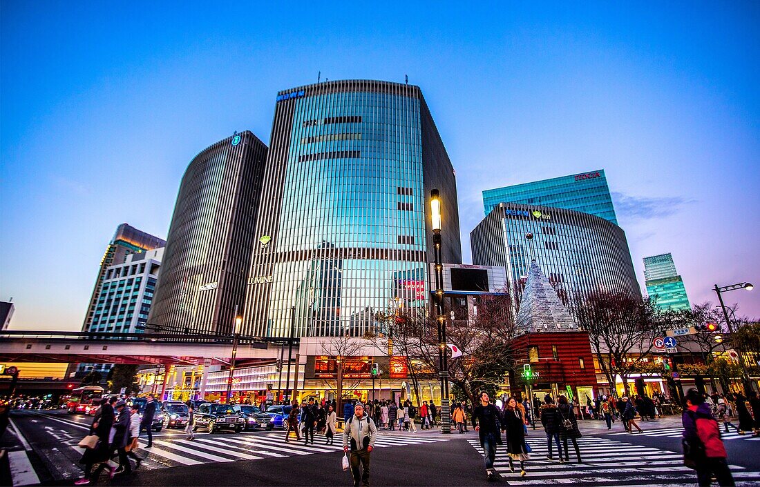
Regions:
<svg viewBox="0 0 760 487"><path fill-rule="evenodd" d="M655 299L661 309L691 309L683 279L676 272L676 264L670 253L644 257L644 278L647 294Z"/></svg>

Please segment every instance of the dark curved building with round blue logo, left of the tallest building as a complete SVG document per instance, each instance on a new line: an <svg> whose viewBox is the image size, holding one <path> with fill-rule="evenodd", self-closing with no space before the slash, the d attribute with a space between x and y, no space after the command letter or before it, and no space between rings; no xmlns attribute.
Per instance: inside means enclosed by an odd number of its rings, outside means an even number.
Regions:
<svg viewBox="0 0 760 487"><path fill-rule="evenodd" d="M188 165L148 323L229 333L242 313L267 146L249 131Z"/></svg>

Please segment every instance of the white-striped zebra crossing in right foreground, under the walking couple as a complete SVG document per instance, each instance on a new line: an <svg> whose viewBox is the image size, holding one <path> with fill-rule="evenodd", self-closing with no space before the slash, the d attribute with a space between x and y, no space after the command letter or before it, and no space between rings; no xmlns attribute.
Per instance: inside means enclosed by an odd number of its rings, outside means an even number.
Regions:
<svg viewBox="0 0 760 487"><path fill-rule="evenodd" d="M468 439L480 454L480 441ZM694 470L683 466L683 456L660 448L632 445L611 438L578 438L583 463L575 463L575 451L568 442L571 462L559 463L546 459L548 448L546 438L527 438L533 451L530 460L525 461L526 476L520 476L520 463L515 463L515 473L511 473L506 445L499 445L494 468L502 476L506 485L695 485ZM556 445L553 445L556 450ZM557 459L556 451L553 451ZM731 465L736 485L757 485L760 472L750 472L744 467Z"/></svg>

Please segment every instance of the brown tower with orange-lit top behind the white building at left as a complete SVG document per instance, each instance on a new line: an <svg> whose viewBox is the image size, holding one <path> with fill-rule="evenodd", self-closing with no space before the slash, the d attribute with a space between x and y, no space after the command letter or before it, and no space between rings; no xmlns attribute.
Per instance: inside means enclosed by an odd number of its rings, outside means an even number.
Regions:
<svg viewBox="0 0 760 487"><path fill-rule="evenodd" d="M141 253L146 250L154 250L166 245L166 241L159 237L154 237L144 231L122 223L116 228L116 234L113 235L111 242L106 247L106 253L100 260L100 271L95 281L93 294L90 297L90 306L87 307L87 315L84 316L82 331L89 331L95 314L95 308L100 300L100 289L103 287L103 278L106 271L111 265L122 264L126 261L128 255L132 253Z"/></svg>

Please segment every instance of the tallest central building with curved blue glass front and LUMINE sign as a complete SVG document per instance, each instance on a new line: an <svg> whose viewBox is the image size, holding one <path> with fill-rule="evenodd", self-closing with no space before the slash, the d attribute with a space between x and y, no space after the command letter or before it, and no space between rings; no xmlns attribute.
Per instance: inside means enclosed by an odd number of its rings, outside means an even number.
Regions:
<svg viewBox="0 0 760 487"><path fill-rule="evenodd" d="M396 300L426 306L430 190L443 262L461 248L454 168L420 88L329 81L276 102L243 330L363 335Z"/></svg>

